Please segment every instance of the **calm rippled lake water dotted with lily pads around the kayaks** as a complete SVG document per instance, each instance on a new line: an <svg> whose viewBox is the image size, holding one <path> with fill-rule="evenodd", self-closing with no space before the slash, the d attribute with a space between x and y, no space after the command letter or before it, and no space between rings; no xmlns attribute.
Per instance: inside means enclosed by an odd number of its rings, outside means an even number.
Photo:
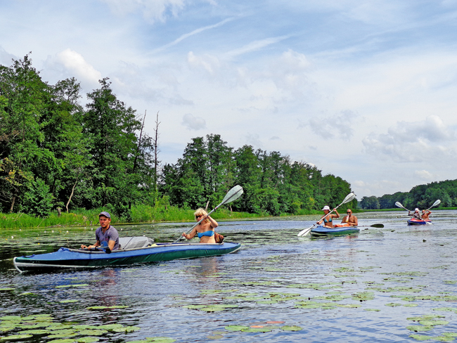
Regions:
<svg viewBox="0 0 457 343"><path fill-rule="evenodd" d="M410 335L453 339L457 212L435 211L433 225L427 226L407 226L404 214L359 214L359 235L314 240L297 237L314 224L313 217L226 221L217 231L227 241L242 243L235 254L42 274L18 273L13 257L92 243L95 231L0 231L0 336L17 335L25 330L20 325L27 324L27 319L15 322L5 316L50 314L54 325L68 328L136 327L133 332L89 332L100 342L146 337L176 342L416 342L419 336ZM362 227L378 223L385 228ZM117 228L122 236L171 242L190 224ZM96 305L121 308L87 309ZM425 315L432 316L423 317L423 325L408 320ZM36 318L29 321L38 328ZM5 329L11 323L18 326ZM231 331L229 325L270 331ZM427 330L414 332L411 325ZM65 332L61 335L65 338ZM53 339L59 338L46 334L25 340Z"/></svg>

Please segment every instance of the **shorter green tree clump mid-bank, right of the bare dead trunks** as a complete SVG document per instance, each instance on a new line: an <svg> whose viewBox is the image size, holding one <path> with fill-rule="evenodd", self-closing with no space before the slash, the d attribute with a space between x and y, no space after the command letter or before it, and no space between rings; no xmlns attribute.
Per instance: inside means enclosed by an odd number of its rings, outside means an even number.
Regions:
<svg viewBox="0 0 457 343"><path fill-rule="evenodd" d="M231 204L234 210L273 216L334 207L351 192L347 181L323 176L307 163L251 145L234 150L213 134L193 138L176 164L163 167L159 190L172 205L195 208L207 201L218 205L235 184L245 193ZM356 201L346 206L355 207Z"/></svg>

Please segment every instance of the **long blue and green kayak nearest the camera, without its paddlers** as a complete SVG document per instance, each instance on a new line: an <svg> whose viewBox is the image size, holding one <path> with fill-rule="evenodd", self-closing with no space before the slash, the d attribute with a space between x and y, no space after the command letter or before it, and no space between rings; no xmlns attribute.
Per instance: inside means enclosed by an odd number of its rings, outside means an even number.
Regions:
<svg viewBox="0 0 457 343"><path fill-rule="evenodd" d="M141 237L144 239L144 237ZM110 254L100 250L76 250L61 247L56 252L15 257L15 268L20 271L58 270L62 268L100 268L128 264L193 259L218 256L240 249L239 243L154 243L150 238L146 246L124 245ZM121 240L120 240L121 242Z"/></svg>

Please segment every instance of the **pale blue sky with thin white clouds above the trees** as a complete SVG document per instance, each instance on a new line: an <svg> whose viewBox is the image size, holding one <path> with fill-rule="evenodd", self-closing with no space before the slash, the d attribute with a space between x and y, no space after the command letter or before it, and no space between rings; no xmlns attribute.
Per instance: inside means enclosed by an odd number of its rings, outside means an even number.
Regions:
<svg viewBox="0 0 457 343"><path fill-rule="evenodd" d="M2 0L0 32L1 65L158 112L162 164L219 134L359 200L457 179L457 0Z"/></svg>

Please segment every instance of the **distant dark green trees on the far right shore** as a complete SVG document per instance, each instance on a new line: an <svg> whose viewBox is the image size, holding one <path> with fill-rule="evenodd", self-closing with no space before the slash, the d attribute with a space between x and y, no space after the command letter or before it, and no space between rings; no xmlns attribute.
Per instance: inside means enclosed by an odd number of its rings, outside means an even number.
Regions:
<svg viewBox="0 0 457 343"><path fill-rule="evenodd" d="M427 209L436 200L441 200L439 207L457 206L457 180L446 180L414 186L409 192L385 194L382 197L363 197L360 202L362 209L392 209L398 208L395 202L407 209Z"/></svg>

